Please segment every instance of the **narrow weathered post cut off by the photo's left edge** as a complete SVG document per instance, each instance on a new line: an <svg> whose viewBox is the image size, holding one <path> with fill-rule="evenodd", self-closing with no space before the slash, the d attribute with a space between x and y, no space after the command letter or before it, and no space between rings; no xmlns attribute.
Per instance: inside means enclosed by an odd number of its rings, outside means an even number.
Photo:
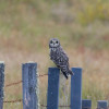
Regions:
<svg viewBox="0 0 109 109"><path fill-rule="evenodd" d="M4 63L0 63L0 109L3 109Z"/></svg>

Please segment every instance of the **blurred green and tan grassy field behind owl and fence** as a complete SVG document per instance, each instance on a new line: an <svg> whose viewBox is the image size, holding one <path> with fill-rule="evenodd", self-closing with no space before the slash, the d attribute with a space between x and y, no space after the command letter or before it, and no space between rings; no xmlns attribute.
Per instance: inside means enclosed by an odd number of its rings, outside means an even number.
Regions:
<svg viewBox="0 0 109 109"><path fill-rule="evenodd" d="M39 74L55 66L51 37L60 39L70 66L83 68L83 99L92 99L93 109L96 100L109 100L109 0L0 0L5 85L22 80L24 62L37 62ZM70 80L61 75L60 83L59 104L70 105ZM47 76L39 78L39 88L40 104L46 105ZM22 98L22 84L4 90L4 100ZM22 104L4 104L4 109L22 109Z"/></svg>

